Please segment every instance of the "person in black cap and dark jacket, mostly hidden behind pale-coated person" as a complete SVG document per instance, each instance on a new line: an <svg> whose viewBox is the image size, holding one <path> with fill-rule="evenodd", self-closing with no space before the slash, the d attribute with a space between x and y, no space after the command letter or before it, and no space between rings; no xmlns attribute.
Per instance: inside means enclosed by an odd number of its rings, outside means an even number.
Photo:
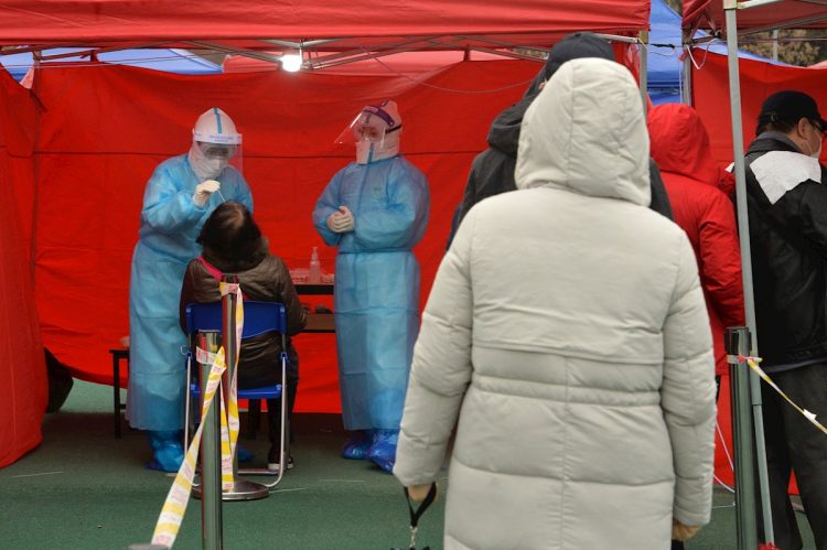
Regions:
<svg viewBox="0 0 827 550"><path fill-rule="evenodd" d="M448 237L449 247L460 222L473 205L483 198L517 188L514 184L514 166L517 161L517 143L519 142L519 127L523 123L523 116L546 82L560 68L560 65L567 61L582 57L602 57L614 61L614 53L612 46L597 34L590 32L568 34L551 48L546 65L537 73L523 99L505 109L494 119L491 130L488 130L488 149L474 159L462 203L454 212L451 234ZM657 165L652 160L649 160L649 176L652 186L652 204L649 207L672 219L672 208L669 207L666 188Z"/></svg>

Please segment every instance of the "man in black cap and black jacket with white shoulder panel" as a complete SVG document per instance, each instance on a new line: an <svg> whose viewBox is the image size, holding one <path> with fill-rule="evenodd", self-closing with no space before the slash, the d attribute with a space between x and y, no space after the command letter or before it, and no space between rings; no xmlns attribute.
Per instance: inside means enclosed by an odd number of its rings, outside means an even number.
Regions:
<svg viewBox="0 0 827 550"><path fill-rule="evenodd" d="M762 367L801 408L827 420L827 122L794 90L770 96L747 151L747 197ZM795 472L816 548L827 549L827 435L762 384L775 543L802 548L787 495Z"/></svg>

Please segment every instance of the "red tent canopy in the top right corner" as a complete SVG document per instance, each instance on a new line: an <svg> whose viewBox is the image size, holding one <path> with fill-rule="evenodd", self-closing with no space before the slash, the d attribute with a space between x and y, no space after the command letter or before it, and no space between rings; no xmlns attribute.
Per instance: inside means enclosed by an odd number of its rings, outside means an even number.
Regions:
<svg viewBox="0 0 827 550"><path fill-rule="evenodd" d="M723 0L685 0L683 26L684 29L723 29ZM824 28L827 28L827 7L823 2L778 0L738 10L739 34L772 29Z"/></svg>

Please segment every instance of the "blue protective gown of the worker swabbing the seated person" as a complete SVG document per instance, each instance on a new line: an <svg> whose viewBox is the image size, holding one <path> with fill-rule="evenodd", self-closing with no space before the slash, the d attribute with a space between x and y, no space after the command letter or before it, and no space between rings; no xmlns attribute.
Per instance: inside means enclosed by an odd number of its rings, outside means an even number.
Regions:
<svg viewBox="0 0 827 550"><path fill-rule="evenodd" d="M253 211L253 195L233 166L222 175L221 194ZM132 428L180 430L184 419L185 370L179 325L179 300L186 265L201 254L195 242L218 193L203 207L193 203L198 179L186 154L158 165L147 183L139 241L129 283L129 391L127 419Z"/></svg>

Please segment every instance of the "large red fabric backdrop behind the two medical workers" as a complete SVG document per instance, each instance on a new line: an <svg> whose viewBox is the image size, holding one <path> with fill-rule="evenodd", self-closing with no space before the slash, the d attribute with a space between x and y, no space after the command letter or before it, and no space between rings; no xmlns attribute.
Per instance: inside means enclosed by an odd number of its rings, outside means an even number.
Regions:
<svg viewBox="0 0 827 550"><path fill-rule="evenodd" d="M421 84L398 75L41 71L33 88L45 107L37 142L35 283L46 345L75 376L110 381L107 351L129 332L129 267L144 184L160 161L186 151L194 120L212 106L225 109L244 133L244 171L272 251L290 267L307 267L319 246L322 267L332 270L335 249L315 234L311 212L354 154L333 140L365 104L396 99L406 121L402 152L431 188L428 230L416 249L425 300L491 120L520 97L539 67L465 62L430 73ZM298 410L339 411L334 335L301 335L297 346Z"/></svg>

